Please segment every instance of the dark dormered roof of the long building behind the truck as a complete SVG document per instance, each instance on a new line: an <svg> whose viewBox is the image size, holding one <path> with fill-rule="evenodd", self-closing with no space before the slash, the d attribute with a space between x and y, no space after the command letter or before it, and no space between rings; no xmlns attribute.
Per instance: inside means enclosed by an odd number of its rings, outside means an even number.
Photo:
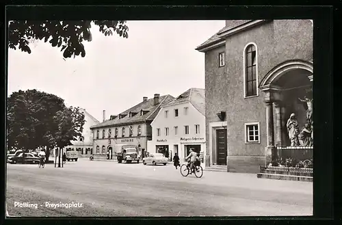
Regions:
<svg viewBox="0 0 342 225"><path fill-rule="evenodd" d="M170 94L160 96L159 97L159 104L154 105L154 98L150 98L146 101L142 101L141 103L127 109L126 111L122 111L120 114L127 114L124 118L119 119L119 117L115 118L114 120L105 120L105 122L101 122L96 124L90 129L94 129L97 127L108 127L108 126L116 126L120 124L130 124L135 122L144 122L145 120L153 120L155 116L157 116L159 109L161 106L166 105L174 100L174 97ZM140 116L141 110L147 110L148 113ZM129 112L137 112L135 116L129 117Z"/></svg>

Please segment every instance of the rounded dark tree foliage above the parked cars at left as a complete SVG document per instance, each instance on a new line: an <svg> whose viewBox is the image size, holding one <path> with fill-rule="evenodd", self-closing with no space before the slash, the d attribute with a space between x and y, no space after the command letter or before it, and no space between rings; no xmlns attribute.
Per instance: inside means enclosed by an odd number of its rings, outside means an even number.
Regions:
<svg viewBox="0 0 342 225"><path fill-rule="evenodd" d="M8 148L64 148L81 135L84 122L78 107L66 107L64 100L53 94L38 90L13 92L7 103Z"/></svg>

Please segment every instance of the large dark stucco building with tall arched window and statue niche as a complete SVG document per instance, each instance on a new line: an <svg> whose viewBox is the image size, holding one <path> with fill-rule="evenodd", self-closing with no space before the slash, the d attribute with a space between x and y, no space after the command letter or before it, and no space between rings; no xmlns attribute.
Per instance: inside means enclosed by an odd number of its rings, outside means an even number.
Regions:
<svg viewBox="0 0 342 225"><path fill-rule="evenodd" d="M290 115L306 123L299 98L312 98L313 22L226 21L196 50L205 53L208 164L259 172L289 146Z"/></svg>

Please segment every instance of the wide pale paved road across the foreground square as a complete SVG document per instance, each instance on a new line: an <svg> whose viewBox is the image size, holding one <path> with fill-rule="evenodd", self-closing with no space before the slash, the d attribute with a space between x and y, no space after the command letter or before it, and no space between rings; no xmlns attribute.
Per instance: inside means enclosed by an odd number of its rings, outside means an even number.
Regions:
<svg viewBox="0 0 342 225"><path fill-rule="evenodd" d="M312 215L313 183L205 171L181 176L167 166L82 159L7 168L7 207L16 216ZM14 207L30 202L32 207ZM50 205L47 206L49 202ZM57 203L79 203L66 209ZM48 203L48 204L49 204ZM37 204L35 209L33 204Z"/></svg>

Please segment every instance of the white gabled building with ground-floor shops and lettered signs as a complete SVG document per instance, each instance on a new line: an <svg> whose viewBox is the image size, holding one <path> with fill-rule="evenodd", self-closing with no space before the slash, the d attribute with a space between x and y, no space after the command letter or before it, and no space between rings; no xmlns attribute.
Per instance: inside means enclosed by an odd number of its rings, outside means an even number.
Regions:
<svg viewBox="0 0 342 225"><path fill-rule="evenodd" d="M189 148L205 153L205 90L187 90L163 106L151 126L150 153L163 153L170 159L177 153L181 161L189 155Z"/></svg>

